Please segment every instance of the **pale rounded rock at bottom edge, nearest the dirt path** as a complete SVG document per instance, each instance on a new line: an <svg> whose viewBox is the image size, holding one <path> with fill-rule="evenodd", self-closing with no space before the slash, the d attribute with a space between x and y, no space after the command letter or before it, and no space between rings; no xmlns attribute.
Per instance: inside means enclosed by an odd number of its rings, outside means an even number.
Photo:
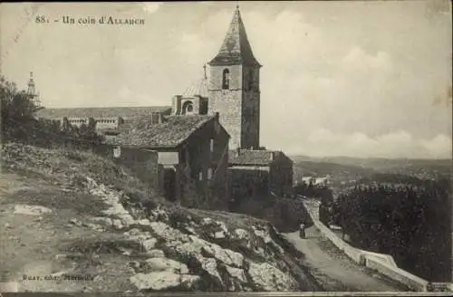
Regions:
<svg viewBox="0 0 453 297"><path fill-rule="evenodd" d="M248 268L253 283L267 292L294 291L298 284L292 276L282 273L269 263L253 263Z"/></svg>

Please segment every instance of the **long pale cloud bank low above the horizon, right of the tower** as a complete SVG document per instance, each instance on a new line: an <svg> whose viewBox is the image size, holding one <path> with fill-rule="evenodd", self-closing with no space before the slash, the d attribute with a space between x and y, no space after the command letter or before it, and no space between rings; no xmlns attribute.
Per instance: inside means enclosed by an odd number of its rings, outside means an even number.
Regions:
<svg viewBox="0 0 453 297"><path fill-rule="evenodd" d="M444 134L419 139L404 130L371 138L360 132L341 134L320 128L310 132L303 145L290 150L290 154L310 156L451 158L452 139Z"/></svg>

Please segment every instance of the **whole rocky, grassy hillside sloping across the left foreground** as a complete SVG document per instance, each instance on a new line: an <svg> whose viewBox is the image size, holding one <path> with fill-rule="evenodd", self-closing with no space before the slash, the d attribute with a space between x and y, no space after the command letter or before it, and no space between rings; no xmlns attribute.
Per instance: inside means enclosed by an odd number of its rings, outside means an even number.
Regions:
<svg viewBox="0 0 453 297"><path fill-rule="evenodd" d="M43 259L53 268L45 274L55 280L19 280L19 291L319 289L300 265L303 255L265 221L169 204L142 190L126 168L90 153L10 143L2 148L2 165L0 223L12 241L2 246L7 264L0 273L15 282L24 273L20 251L40 253L23 247L34 240L25 235L33 228L33 237L43 240L30 244L47 249ZM30 216L36 219L24 228ZM64 283L74 275L92 279Z"/></svg>

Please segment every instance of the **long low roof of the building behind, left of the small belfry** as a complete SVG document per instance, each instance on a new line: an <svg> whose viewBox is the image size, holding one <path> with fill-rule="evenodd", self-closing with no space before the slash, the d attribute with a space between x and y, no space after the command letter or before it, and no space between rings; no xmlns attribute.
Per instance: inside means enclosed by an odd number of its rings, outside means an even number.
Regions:
<svg viewBox="0 0 453 297"><path fill-rule="evenodd" d="M45 119L68 118L136 118L150 115L152 112L169 113L169 106L146 106L146 107L95 107L95 108L72 108L72 109L43 109L37 112L37 116Z"/></svg>

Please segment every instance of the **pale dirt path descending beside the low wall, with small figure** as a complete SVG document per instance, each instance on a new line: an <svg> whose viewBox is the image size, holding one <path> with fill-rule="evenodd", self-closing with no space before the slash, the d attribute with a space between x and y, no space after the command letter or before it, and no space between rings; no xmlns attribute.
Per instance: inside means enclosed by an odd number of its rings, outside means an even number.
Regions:
<svg viewBox="0 0 453 297"><path fill-rule="evenodd" d="M298 232L284 237L305 254L304 264L326 291L402 291L398 284L391 283L380 274L371 273L365 267L353 263L334 246L320 231L312 226L306 229L306 239Z"/></svg>

